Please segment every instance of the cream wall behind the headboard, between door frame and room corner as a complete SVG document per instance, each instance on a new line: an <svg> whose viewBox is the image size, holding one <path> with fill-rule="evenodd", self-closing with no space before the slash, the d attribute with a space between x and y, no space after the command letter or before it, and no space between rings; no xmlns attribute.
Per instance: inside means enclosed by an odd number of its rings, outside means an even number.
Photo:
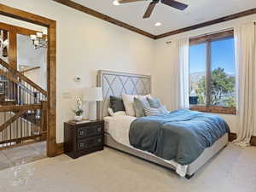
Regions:
<svg viewBox="0 0 256 192"><path fill-rule="evenodd" d="M76 97L81 96L81 89L96 85L97 70L151 74L154 40L150 38L51 0L0 0L0 3L57 20L58 143L63 141L63 122L73 118L71 108ZM82 78L80 83L73 81L77 76Z"/></svg>

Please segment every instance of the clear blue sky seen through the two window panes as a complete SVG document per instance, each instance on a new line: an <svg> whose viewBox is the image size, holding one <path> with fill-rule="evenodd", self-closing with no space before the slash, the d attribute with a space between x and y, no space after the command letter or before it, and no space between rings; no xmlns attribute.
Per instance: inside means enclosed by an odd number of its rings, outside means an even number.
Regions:
<svg viewBox="0 0 256 192"><path fill-rule="evenodd" d="M212 42L212 70L223 67L229 74L236 73L235 42L228 38ZM189 48L189 73L206 70L206 44L196 44Z"/></svg>

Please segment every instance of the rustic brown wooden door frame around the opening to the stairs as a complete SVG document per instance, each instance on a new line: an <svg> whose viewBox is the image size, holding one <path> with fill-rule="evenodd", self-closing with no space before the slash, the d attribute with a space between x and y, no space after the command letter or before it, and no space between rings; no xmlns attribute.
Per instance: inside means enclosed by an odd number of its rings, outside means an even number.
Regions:
<svg viewBox="0 0 256 192"><path fill-rule="evenodd" d="M15 9L0 3L0 15L23 20L48 28L47 55L47 156L54 157L63 153L63 144L56 143L56 21L46 17Z"/></svg>

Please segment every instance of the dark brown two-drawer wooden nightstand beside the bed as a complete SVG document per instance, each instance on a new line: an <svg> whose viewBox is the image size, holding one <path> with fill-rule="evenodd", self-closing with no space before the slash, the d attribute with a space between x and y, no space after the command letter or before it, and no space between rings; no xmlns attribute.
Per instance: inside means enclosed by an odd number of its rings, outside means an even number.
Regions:
<svg viewBox="0 0 256 192"><path fill-rule="evenodd" d="M104 121L64 123L64 153L73 159L104 148Z"/></svg>

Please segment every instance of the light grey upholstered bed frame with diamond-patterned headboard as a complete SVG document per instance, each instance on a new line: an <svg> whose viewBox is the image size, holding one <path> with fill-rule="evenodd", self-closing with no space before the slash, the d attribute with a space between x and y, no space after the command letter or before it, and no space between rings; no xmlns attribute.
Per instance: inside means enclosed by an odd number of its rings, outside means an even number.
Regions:
<svg viewBox="0 0 256 192"><path fill-rule="evenodd" d="M119 73L111 71L99 71L97 85L102 87L103 101L97 103L97 117L103 119L108 116L109 96L121 96L122 94L147 95L151 93L151 76L131 73ZM218 153L229 143L228 134L218 139L211 148L205 149L199 158L188 166L186 178L194 176L195 172L201 168L208 160ZM129 148L116 142L107 132L105 133L105 145L132 154L136 157L148 160L166 168L176 169L172 164L161 160L151 154L146 154L134 148Z"/></svg>

